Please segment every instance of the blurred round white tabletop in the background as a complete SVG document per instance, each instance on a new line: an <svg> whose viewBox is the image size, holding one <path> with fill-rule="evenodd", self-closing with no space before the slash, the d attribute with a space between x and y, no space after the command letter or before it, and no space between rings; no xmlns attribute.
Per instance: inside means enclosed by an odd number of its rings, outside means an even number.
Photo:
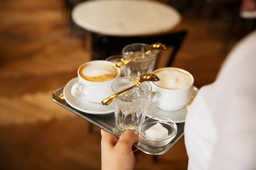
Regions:
<svg viewBox="0 0 256 170"><path fill-rule="evenodd" d="M110 36L165 33L180 23L176 9L151 0L93 0L77 5L72 19L81 28Z"/></svg>

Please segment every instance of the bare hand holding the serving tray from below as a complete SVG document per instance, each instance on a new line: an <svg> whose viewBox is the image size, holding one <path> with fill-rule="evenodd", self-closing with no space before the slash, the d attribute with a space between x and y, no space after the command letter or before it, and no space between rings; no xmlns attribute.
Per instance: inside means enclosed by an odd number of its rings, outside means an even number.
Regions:
<svg viewBox="0 0 256 170"><path fill-rule="evenodd" d="M118 139L101 129L101 169L133 170L147 154L133 152L132 145L139 140L133 131L125 131Z"/></svg>

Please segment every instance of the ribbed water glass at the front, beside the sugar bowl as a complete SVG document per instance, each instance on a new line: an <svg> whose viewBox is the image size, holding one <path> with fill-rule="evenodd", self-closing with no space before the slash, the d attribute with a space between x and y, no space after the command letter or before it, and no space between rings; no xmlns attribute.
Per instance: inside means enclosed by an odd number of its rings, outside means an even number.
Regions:
<svg viewBox="0 0 256 170"><path fill-rule="evenodd" d="M116 79L112 84L113 93L123 91L138 81L138 77ZM115 123L121 131L137 131L139 124L145 119L148 105L152 101L151 92L151 85L148 82L143 82L113 101Z"/></svg>

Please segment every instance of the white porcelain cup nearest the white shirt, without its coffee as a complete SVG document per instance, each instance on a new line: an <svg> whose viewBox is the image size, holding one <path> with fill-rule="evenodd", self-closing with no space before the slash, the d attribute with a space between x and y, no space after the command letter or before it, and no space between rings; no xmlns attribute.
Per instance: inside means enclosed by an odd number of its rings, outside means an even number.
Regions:
<svg viewBox="0 0 256 170"><path fill-rule="evenodd" d="M158 102L157 104L155 104L155 106L164 111L177 111L183 109L191 100L194 77L188 71L174 67L157 69L153 71L152 74L163 69L180 70L191 76L192 83L184 89L165 89L156 85L156 82L150 82L152 86L152 91L158 93Z"/></svg>

